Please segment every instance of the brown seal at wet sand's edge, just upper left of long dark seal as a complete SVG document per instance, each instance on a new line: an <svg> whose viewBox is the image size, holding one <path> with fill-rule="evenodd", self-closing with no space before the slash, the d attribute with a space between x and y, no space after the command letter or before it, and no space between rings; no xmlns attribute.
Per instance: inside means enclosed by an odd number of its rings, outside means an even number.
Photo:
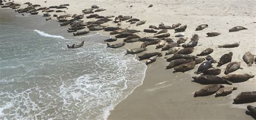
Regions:
<svg viewBox="0 0 256 120"><path fill-rule="evenodd" d="M195 66L196 66L196 61L191 61L189 63L181 64L179 66L174 67L173 73L186 72L186 71L194 69Z"/></svg>

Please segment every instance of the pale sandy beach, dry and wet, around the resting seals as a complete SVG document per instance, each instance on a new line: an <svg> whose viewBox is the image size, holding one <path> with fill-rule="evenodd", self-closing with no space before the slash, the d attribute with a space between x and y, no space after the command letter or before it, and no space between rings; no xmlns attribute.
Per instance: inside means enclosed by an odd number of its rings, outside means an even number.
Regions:
<svg viewBox="0 0 256 120"><path fill-rule="evenodd" d="M233 52L232 62L241 62L242 70L239 69L233 73L248 73L256 75L256 64L247 66L243 61L242 56L246 51L250 51L256 55L255 38L256 38L256 2L255 1L47 1L42 0L16 0L15 2L22 4L21 7L26 7L25 2L40 4L41 6L52 6L60 4L70 4L69 9L65 9L66 13L50 14L82 14L82 10L89 9L92 5L98 5L99 8L106 11L98 12L101 16L132 16L140 20L146 20L146 24L136 26L129 22L122 22L120 27L137 29L136 33L141 38L145 36L153 36L153 33L145 33L143 29L149 28L150 25L158 26L160 22L165 25L180 23L187 25L185 36L188 41L192 34L199 35L199 42L194 48L191 55L197 55L206 48L214 49L210 54L216 61L220 57L229 52ZM150 4L153 7L147 7ZM131 7L132 5L132 7ZM63 9L64 10L64 9ZM39 12L39 14L43 14ZM85 15L87 16L87 14ZM42 17L42 19L45 19ZM52 17L55 19L55 17ZM114 19L114 18L112 18ZM84 21L92 21L93 19L83 19ZM56 23L58 24L58 23ZM109 26L116 26L113 22L105 23ZM208 24L208 27L203 31L195 31L196 27L201 24ZM239 32L228 32L228 29L234 26L244 26L248 29ZM61 29L61 27L56 28ZM86 28L87 29L87 28ZM100 34L109 36L109 32L97 31ZM215 37L206 37L208 32L220 32L221 34ZM178 38L174 36L179 33L174 33L174 29L169 29L170 38L176 41ZM72 36L71 33L67 33ZM114 37L114 35L112 35ZM123 39L118 39L112 43L123 42ZM230 43L240 42L239 47L235 48L218 48L217 46ZM126 43L125 48L139 48L142 42ZM64 44L65 46L65 44ZM185 73L173 73L173 69L166 70L169 62L166 62L164 56L166 51L156 49L156 45L148 46L148 50L144 53L158 51L163 53L163 57L158 57L157 61L147 65L146 76L143 84L133 93L126 97L125 100L117 104L114 110L110 112L107 119L253 119L245 114L246 106L256 106L256 103L233 104L233 99L241 92L256 91L256 78L252 78L243 83L234 83L237 90L232 94L223 97L214 97L214 95L204 97L193 97L195 91L205 87L192 82L196 68ZM204 56L202 56L204 57ZM146 62L143 60L142 62ZM213 64L215 68L217 64ZM220 67L221 74L225 76L224 71L226 65Z"/></svg>

